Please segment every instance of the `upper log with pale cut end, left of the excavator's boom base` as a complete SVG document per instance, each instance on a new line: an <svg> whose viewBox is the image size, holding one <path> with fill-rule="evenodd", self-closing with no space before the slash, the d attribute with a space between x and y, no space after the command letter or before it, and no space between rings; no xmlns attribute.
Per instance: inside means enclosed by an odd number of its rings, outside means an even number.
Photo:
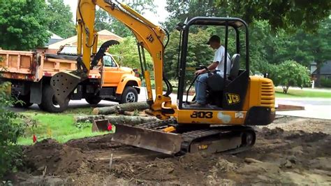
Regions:
<svg viewBox="0 0 331 186"><path fill-rule="evenodd" d="M149 108L146 102L124 103L116 106L97 107L93 109L94 115L122 114L124 111L145 110Z"/></svg>

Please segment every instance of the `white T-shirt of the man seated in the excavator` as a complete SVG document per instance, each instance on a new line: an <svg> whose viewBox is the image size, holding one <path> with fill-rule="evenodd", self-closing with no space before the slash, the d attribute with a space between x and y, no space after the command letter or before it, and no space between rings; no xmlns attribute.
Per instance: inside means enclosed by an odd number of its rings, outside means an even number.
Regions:
<svg viewBox="0 0 331 186"><path fill-rule="evenodd" d="M215 51L215 56L214 56L214 61L213 62L219 62L219 65L216 67L216 71L219 75L222 76L224 75L224 53L225 53L225 48L221 45L216 51ZM231 69L231 62L230 62L230 55L227 55L228 59L226 62L226 74L230 74L230 69Z"/></svg>

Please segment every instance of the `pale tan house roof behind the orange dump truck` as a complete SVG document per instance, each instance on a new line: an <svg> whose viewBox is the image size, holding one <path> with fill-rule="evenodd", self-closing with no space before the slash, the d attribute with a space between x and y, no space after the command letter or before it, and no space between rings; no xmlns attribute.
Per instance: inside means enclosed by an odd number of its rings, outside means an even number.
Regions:
<svg viewBox="0 0 331 186"><path fill-rule="evenodd" d="M117 36L116 34L112 33L111 31L108 30L101 30L98 31L98 44L101 44L105 41L108 40L116 40L116 41L122 41L122 37ZM77 45L77 36L72 36L70 38L63 39L61 41L51 43L50 45L47 45L45 48L46 53L51 53L51 54L56 54L59 48L64 45L69 45L69 46L76 46Z"/></svg>

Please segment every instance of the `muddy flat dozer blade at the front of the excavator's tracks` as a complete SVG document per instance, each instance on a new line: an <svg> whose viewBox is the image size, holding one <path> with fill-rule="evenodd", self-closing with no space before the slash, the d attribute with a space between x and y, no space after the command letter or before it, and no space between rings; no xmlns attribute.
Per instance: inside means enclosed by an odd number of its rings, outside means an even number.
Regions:
<svg viewBox="0 0 331 186"><path fill-rule="evenodd" d="M112 141L168 155L175 155L181 149L183 139L180 134L131 127L124 124L116 124L115 127L116 131L112 136Z"/></svg>

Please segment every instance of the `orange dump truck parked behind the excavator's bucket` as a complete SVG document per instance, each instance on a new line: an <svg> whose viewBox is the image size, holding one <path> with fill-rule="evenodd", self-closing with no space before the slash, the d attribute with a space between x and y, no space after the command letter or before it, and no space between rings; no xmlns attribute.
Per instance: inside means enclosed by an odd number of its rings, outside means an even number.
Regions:
<svg viewBox="0 0 331 186"><path fill-rule="evenodd" d="M77 56L52 55L44 52L0 50L0 82L11 83L17 107L38 104L50 113L61 113L70 100L85 99L90 104L101 100L128 103L138 101L141 80L137 69L121 67L109 53L91 69L87 80L78 84L64 103L58 103L50 78L61 71L77 69Z"/></svg>

